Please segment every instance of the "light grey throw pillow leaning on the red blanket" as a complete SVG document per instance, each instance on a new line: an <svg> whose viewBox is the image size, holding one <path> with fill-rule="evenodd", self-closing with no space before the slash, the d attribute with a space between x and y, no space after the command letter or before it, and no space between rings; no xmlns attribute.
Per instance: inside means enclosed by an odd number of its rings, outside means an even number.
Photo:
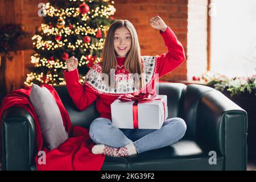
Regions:
<svg viewBox="0 0 256 182"><path fill-rule="evenodd" d="M50 150L57 148L68 139L63 126L60 109L51 92L44 86L32 85L30 101L40 124L44 143Z"/></svg>

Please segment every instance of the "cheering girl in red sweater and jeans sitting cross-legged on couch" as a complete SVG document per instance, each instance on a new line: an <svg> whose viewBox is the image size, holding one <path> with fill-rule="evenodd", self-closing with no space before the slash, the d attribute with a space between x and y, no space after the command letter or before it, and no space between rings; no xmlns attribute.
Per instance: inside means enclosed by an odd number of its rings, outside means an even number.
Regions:
<svg viewBox="0 0 256 182"><path fill-rule="evenodd" d="M74 56L66 60L65 81L77 108L84 110L97 100L100 118L94 119L89 129L90 137L96 143L93 154L129 156L168 146L185 134L187 126L181 118L166 119L159 130L118 129L112 125L110 104L114 100L125 93L155 93L155 89L148 90L148 85L155 88L156 77L166 75L185 60L183 46L162 18L151 18L150 25L159 30L167 53L141 56L133 24L129 20L117 20L106 35L101 63L94 64L86 74L84 85L79 82L78 60ZM137 81L131 76L134 74L141 75L137 76Z"/></svg>

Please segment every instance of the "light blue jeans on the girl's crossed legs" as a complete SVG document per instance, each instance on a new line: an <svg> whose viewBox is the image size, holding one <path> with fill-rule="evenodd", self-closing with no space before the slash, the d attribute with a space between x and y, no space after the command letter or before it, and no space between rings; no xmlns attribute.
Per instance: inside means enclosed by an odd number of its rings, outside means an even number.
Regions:
<svg viewBox="0 0 256 182"><path fill-rule="evenodd" d="M123 147L133 142L138 153L166 147L183 138L187 125L181 118L169 118L159 130L118 129L108 118L96 118L90 124L90 138L96 144Z"/></svg>

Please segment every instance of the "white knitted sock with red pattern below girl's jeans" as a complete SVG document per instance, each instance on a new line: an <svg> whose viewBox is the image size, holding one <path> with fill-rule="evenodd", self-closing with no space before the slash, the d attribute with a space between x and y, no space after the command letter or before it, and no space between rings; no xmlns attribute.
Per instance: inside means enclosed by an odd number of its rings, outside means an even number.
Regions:
<svg viewBox="0 0 256 182"><path fill-rule="evenodd" d="M123 147L110 147L105 144L96 144L92 147L93 154L104 154L114 157L126 157L129 155L137 154L137 150L133 143L129 143Z"/></svg>

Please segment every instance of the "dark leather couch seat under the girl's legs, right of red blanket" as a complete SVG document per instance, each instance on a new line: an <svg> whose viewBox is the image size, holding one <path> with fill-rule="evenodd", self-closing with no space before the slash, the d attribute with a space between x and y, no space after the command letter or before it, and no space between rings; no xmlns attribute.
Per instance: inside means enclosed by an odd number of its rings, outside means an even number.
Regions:
<svg viewBox="0 0 256 182"><path fill-rule="evenodd" d="M106 156L105 170L223 170L223 157L216 156L217 164L209 164L209 151L189 139L181 139L171 146L129 156Z"/></svg>

